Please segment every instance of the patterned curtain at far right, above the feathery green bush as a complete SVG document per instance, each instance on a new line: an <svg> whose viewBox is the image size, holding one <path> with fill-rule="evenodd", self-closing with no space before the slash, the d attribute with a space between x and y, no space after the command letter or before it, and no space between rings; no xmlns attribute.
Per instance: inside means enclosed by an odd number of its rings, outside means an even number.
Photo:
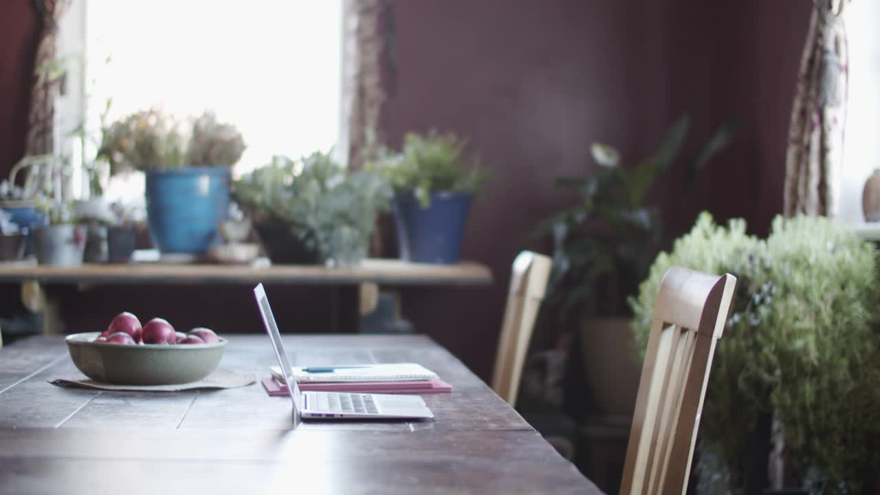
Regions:
<svg viewBox="0 0 880 495"><path fill-rule="evenodd" d="M814 0L786 155L785 215L833 217L847 104L848 0Z"/></svg>

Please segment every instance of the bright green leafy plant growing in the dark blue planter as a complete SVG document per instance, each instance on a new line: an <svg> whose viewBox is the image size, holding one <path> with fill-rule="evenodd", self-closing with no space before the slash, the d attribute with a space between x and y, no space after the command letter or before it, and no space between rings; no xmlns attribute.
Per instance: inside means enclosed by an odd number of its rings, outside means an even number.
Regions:
<svg viewBox="0 0 880 495"><path fill-rule="evenodd" d="M400 151L379 146L365 168L385 176L394 189L413 192L427 208L433 192L477 194L488 181L488 172L467 155L466 147L466 140L454 133L407 132Z"/></svg>

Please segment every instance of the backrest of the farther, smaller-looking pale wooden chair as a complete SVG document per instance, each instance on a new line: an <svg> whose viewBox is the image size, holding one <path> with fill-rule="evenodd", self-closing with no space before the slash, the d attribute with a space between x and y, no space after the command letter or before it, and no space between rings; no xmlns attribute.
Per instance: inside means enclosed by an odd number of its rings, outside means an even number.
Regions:
<svg viewBox="0 0 880 495"><path fill-rule="evenodd" d="M548 256L532 251L523 251L513 262L495 356L495 373L492 374L492 389L510 406L517 403L525 352L528 351L535 318L544 299L552 264Z"/></svg>

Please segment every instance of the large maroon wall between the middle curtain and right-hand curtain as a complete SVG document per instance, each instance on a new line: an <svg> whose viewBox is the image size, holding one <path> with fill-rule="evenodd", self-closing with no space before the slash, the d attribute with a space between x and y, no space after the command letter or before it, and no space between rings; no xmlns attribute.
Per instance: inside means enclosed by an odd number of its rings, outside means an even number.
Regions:
<svg viewBox="0 0 880 495"><path fill-rule="evenodd" d="M415 328L481 376L492 366L510 262L535 222L573 201L551 181L590 173L591 142L617 145L631 163L690 112L685 154L693 155L716 126L738 120L737 142L693 187L680 167L672 171L662 200L671 232L685 232L706 209L720 220L747 218L762 232L781 211L809 0L391 4L386 136L398 144L407 130L455 130L495 176L474 204L463 254L487 263L495 284L404 297Z"/></svg>

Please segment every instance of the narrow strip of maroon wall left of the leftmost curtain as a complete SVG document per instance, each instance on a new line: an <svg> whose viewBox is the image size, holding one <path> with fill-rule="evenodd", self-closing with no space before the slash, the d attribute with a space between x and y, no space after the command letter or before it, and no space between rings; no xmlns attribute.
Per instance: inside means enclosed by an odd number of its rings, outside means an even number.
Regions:
<svg viewBox="0 0 880 495"><path fill-rule="evenodd" d="M25 153L38 30L31 0L0 2L0 179Z"/></svg>

